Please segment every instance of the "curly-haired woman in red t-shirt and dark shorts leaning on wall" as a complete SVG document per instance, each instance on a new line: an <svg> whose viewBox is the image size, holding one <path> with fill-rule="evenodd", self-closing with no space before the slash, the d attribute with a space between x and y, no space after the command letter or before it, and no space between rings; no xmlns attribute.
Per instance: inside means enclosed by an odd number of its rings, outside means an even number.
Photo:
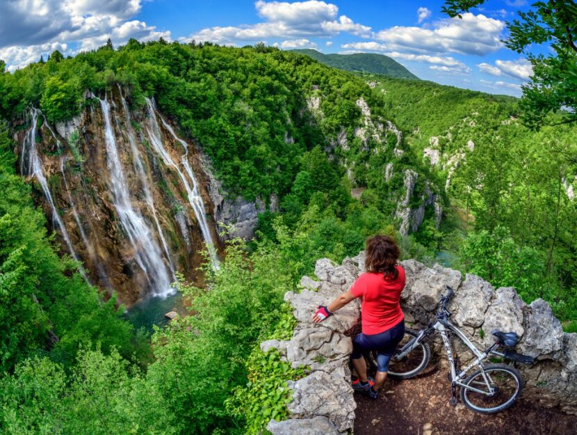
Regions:
<svg viewBox="0 0 577 435"><path fill-rule="evenodd" d="M371 237L366 242L366 272L359 276L348 292L336 297L328 306L319 306L313 322L322 322L353 299L362 298L362 333L352 341L352 365L359 378L352 388L369 393L373 399L389 372L389 361L405 334L405 315L400 308L400 294L405 288L405 270L398 264L399 248L389 236ZM364 351L376 350L375 379L366 375Z"/></svg>

